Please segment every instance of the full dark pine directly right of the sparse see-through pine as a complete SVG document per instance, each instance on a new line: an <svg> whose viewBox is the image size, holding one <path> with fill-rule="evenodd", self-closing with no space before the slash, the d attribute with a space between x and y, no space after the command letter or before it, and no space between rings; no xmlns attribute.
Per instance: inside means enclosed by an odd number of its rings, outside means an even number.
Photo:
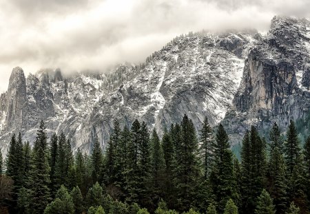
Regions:
<svg viewBox="0 0 310 214"><path fill-rule="evenodd" d="M218 126L216 133L214 167L210 176L218 202L218 209L223 211L227 200L234 195L234 165L232 153L229 149L229 138L221 124Z"/></svg>

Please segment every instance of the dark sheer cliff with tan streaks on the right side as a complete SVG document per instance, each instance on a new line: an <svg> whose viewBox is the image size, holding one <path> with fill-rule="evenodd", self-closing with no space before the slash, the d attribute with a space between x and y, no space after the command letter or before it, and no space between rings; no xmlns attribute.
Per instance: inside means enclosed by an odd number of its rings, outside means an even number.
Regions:
<svg viewBox="0 0 310 214"><path fill-rule="evenodd" d="M310 25L306 19L274 17L271 30L250 52L231 110L223 124L233 142L251 125L262 132L277 122L309 114Z"/></svg>

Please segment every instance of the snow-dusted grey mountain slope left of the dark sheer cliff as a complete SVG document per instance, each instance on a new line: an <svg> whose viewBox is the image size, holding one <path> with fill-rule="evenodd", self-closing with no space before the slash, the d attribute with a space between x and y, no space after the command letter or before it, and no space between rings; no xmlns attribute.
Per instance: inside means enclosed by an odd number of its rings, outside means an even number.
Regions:
<svg viewBox="0 0 310 214"><path fill-rule="evenodd" d="M197 129L205 116L216 125L231 107L245 58L258 41L255 31L179 36L142 65L121 65L111 74L64 78L59 69L47 69L25 78L16 67L1 95L1 150L13 132L32 142L41 119L49 133L64 131L72 147L86 152L95 133L104 147L114 118L126 125L138 118L163 130L188 114Z"/></svg>

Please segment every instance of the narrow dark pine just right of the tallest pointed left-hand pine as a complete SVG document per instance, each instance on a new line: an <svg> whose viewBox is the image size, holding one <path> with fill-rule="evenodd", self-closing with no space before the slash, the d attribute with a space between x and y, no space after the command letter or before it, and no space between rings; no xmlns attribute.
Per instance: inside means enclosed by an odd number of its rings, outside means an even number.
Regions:
<svg viewBox="0 0 310 214"><path fill-rule="evenodd" d="M56 193L56 163L58 158L58 138L56 133L52 135L50 140L50 191L52 193L52 197L54 193Z"/></svg>

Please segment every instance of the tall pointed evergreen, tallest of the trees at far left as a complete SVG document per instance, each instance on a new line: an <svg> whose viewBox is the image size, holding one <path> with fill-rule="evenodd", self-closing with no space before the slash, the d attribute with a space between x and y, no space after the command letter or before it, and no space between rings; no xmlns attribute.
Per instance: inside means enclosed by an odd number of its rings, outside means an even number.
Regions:
<svg viewBox="0 0 310 214"><path fill-rule="evenodd" d="M32 213L43 213L50 201L50 167L48 166L48 142L45 125L41 121L34 141L30 171L30 199Z"/></svg>

